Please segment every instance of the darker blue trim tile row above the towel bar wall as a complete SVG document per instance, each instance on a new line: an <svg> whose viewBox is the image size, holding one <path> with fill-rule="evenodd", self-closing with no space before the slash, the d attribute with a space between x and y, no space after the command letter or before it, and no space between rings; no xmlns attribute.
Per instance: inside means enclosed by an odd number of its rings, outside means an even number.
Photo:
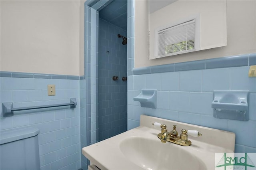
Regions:
<svg viewBox="0 0 256 170"><path fill-rule="evenodd" d="M69 79L69 80L83 80L84 76L77 75L58 75L58 74L39 74L39 73L21 73L12 71L0 71L0 77L13 78L34 78L34 79Z"/></svg>

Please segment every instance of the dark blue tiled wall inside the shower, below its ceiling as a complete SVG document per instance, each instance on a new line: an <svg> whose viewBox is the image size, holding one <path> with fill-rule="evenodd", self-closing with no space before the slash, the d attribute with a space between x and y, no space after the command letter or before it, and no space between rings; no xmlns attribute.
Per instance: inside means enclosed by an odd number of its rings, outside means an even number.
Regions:
<svg viewBox="0 0 256 170"><path fill-rule="evenodd" d="M99 140L126 131L127 45L118 34L126 30L99 18ZM113 76L118 76L116 81Z"/></svg>

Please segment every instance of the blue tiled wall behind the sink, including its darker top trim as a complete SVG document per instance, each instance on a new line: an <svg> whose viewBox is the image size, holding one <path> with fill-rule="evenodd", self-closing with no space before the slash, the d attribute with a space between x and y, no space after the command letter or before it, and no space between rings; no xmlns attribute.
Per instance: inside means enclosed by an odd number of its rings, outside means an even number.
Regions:
<svg viewBox="0 0 256 170"><path fill-rule="evenodd" d="M187 65L133 69L133 75L128 76L128 130L139 126L141 114L152 115L234 132L236 152L255 152L256 77L248 77L254 59L255 53L186 62ZM143 88L158 90L157 109L142 108L133 101ZM214 90L248 90L249 121L214 118L211 108Z"/></svg>

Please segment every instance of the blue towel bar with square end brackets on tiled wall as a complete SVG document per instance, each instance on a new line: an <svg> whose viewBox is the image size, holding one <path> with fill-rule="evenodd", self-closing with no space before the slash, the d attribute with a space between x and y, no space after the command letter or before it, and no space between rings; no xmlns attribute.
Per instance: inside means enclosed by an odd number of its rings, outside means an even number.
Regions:
<svg viewBox="0 0 256 170"><path fill-rule="evenodd" d="M32 107L18 107L18 108L13 108L12 102L6 102L6 103L2 103L2 110L3 110L3 117L9 117L9 116L14 115L14 111L43 109L43 108L61 107L61 106L70 106L70 109L72 109L72 108L76 108L76 105L77 105L76 98L70 98L70 103L56 104L56 105L32 106Z"/></svg>

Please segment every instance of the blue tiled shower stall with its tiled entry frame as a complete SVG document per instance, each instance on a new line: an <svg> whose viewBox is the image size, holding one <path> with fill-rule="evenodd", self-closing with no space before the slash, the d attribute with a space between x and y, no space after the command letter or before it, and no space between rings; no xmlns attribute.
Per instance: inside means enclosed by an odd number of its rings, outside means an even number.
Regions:
<svg viewBox="0 0 256 170"><path fill-rule="evenodd" d="M126 44L130 44L126 38L127 0L87 0L84 7L81 148L127 129ZM90 164L84 156L81 162L84 169Z"/></svg>

